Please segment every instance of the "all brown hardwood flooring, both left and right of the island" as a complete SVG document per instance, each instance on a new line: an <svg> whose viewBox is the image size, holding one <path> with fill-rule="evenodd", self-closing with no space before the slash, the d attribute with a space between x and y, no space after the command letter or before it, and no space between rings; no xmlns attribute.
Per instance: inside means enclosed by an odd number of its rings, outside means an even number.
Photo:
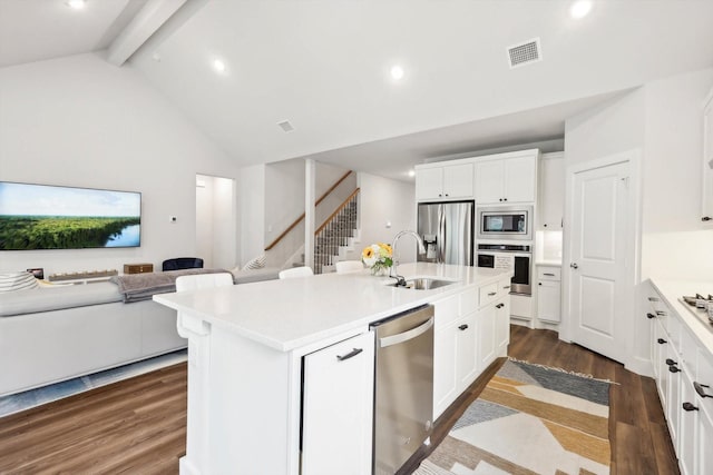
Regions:
<svg viewBox="0 0 713 475"><path fill-rule="evenodd" d="M613 385L612 474L677 474L678 467L654 382L548 330L510 329L509 355L592 374ZM502 360L441 416L434 447L475 400ZM186 365L0 418L0 474L177 474L185 453ZM410 473L427 453L418 454Z"/></svg>

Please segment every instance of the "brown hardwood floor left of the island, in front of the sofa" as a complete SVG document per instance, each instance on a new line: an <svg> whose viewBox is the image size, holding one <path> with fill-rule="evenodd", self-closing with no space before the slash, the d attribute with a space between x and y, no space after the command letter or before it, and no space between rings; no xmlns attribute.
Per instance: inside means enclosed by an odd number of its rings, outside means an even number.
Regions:
<svg viewBox="0 0 713 475"><path fill-rule="evenodd" d="M0 474L177 474L186 364L0 418Z"/></svg>

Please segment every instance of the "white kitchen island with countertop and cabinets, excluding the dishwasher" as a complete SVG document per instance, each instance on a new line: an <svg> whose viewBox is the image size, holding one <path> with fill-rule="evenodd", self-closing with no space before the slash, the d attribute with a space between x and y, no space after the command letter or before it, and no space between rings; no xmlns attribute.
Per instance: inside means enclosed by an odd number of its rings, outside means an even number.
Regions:
<svg viewBox="0 0 713 475"><path fill-rule="evenodd" d="M434 306L433 418L505 356L510 273L426 263L399 273L449 284L395 288L364 270L156 295L188 338L180 473L371 473L374 321Z"/></svg>

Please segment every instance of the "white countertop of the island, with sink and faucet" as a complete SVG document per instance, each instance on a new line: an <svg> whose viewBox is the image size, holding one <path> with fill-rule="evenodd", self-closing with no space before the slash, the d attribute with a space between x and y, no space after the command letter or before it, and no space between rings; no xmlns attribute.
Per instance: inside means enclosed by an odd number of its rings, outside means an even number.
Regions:
<svg viewBox="0 0 713 475"><path fill-rule="evenodd" d="M154 300L229 329L281 352L289 352L370 323L458 294L466 287L497 281L508 271L438 265L403 264L399 274L457 280L432 290L394 288L394 279L353 274L323 274L155 295Z"/></svg>

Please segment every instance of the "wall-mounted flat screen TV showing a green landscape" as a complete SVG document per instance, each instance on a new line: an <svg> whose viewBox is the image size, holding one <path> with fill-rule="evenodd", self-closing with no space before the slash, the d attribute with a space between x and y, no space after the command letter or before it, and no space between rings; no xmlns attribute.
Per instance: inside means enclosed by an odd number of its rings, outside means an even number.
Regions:
<svg viewBox="0 0 713 475"><path fill-rule="evenodd" d="M0 250L140 244L140 192L0 181Z"/></svg>

